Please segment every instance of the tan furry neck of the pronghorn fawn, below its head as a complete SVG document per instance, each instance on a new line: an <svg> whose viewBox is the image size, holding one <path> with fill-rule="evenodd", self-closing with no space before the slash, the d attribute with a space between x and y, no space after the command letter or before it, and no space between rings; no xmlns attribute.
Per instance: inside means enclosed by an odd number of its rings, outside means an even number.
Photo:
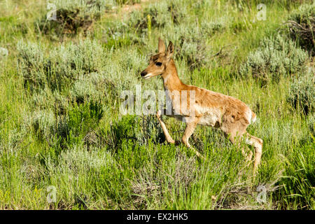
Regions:
<svg viewBox="0 0 315 224"><path fill-rule="evenodd" d="M174 91L181 90L183 87L183 83L179 79L179 75L177 74L177 69L174 63L174 60L171 59L167 69L162 73L163 85L165 90Z"/></svg>

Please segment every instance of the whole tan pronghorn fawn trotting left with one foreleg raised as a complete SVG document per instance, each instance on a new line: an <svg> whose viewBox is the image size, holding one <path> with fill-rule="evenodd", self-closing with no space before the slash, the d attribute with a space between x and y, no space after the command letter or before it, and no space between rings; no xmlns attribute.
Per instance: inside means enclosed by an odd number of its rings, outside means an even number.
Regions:
<svg viewBox="0 0 315 224"><path fill-rule="evenodd" d="M253 137L246 132L248 125L256 120L255 113L239 99L182 83L177 74L174 59L172 59L173 54L173 43L169 41L166 50L165 43L159 38L158 54L151 56L148 67L141 72L141 77L144 79L153 76L161 76L166 98L172 102L172 113L167 114L165 109L162 109L162 111L159 110L157 113L167 142L169 144L178 143L169 135L167 127L162 120L162 114L186 122L186 130L181 140L188 148L190 148L188 139L193 134L197 125L207 125L221 129L225 137L227 137L232 144L241 147L240 141L244 139L246 144L255 148L255 161L253 166L255 174L262 154L262 139ZM174 94L174 92L179 94ZM185 94L183 94L184 92ZM178 100L176 96L179 96L181 100ZM189 98L190 100L185 102L184 98ZM191 100L192 98L193 101ZM183 104L189 109L186 109ZM193 149L193 151L195 151L195 149ZM243 147L241 147L241 151L243 155L246 156L247 161L251 160L253 155L251 151L246 154ZM202 157L197 151L195 151L195 153L198 157Z"/></svg>

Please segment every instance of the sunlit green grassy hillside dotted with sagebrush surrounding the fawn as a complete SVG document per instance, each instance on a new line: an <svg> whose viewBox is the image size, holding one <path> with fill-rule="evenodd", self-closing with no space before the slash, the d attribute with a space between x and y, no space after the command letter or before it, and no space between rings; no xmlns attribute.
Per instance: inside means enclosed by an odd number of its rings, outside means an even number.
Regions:
<svg viewBox="0 0 315 224"><path fill-rule="evenodd" d="M315 209L314 1L51 2L55 20L0 0L0 209ZM257 114L255 179L221 132L197 127L199 160L154 115L120 113L123 90L163 89L140 76L159 36L184 83Z"/></svg>

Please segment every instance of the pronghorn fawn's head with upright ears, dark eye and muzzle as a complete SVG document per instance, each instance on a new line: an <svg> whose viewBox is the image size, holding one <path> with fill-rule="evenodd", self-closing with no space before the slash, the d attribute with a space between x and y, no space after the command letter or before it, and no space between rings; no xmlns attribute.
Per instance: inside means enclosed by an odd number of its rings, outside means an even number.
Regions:
<svg viewBox="0 0 315 224"><path fill-rule="evenodd" d="M167 66L169 66L169 62L174 54L174 45L172 41L169 41L169 46L167 50L165 50L164 41L159 38L159 45L158 45L158 54L153 55L150 58L149 65L144 71L141 71L141 77L144 79L151 78L153 76L162 75Z"/></svg>

